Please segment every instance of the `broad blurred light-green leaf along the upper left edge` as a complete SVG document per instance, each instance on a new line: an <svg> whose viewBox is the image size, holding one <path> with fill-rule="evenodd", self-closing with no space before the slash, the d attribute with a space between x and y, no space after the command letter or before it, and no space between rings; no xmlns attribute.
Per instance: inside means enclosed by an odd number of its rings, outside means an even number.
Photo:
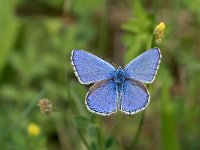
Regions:
<svg viewBox="0 0 200 150"><path fill-rule="evenodd" d="M19 22L14 17L16 1L0 1L0 76L14 46Z"/></svg>

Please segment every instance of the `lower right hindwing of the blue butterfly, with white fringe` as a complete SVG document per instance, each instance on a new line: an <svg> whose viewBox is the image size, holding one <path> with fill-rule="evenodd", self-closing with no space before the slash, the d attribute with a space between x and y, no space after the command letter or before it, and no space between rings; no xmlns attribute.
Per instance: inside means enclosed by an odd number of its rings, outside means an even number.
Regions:
<svg viewBox="0 0 200 150"><path fill-rule="evenodd" d="M150 101L150 95L145 85L133 79L124 82L120 111L135 114L143 110Z"/></svg>

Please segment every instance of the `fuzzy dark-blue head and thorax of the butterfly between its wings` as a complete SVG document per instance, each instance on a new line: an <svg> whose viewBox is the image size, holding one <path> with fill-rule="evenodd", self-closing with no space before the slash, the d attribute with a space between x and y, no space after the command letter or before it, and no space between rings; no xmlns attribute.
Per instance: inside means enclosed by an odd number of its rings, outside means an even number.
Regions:
<svg viewBox="0 0 200 150"><path fill-rule="evenodd" d="M115 72L114 81L117 85L123 84L125 81L125 72L121 66Z"/></svg>

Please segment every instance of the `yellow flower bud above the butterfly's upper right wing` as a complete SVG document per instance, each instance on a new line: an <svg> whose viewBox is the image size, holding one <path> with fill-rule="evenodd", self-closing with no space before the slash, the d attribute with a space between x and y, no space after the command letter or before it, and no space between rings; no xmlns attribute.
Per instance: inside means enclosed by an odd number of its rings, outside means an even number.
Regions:
<svg viewBox="0 0 200 150"><path fill-rule="evenodd" d="M165 23L164 22L160 22L154 30L154 34L155 34L155 40L157 44L160 44L162 42L162 39L164 37L164 32L165 32Z"/></svg>

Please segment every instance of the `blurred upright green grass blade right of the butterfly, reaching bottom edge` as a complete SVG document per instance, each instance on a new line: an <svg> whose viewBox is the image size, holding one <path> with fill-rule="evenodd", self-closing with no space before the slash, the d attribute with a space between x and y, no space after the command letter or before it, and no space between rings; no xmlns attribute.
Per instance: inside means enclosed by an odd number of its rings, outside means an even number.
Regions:
<svg viewBox="0 0 200 150"><path fill-rule="evenodd" d="M179 150L180 145L177 138L177 124L175 122L175 110L172 97L169 94L172 84L167 70L162 70L163 82L161 93L161 149Z"/></svg>

